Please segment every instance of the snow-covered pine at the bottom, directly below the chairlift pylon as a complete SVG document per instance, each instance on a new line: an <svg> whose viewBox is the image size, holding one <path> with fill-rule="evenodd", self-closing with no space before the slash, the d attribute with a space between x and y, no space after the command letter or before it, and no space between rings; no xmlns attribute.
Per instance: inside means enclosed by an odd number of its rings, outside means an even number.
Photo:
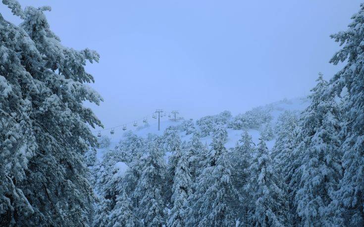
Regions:
<svg viewBox="0 0 364 227"><path fill-rule="evenodd" d="M166 176L164 152L160 150L161 139L156 138L149 143L149 154L142 157L143 171L137 187L135 197L139 197L137 217L144 226L161 226L165 224L163 185Z"/></svg>

